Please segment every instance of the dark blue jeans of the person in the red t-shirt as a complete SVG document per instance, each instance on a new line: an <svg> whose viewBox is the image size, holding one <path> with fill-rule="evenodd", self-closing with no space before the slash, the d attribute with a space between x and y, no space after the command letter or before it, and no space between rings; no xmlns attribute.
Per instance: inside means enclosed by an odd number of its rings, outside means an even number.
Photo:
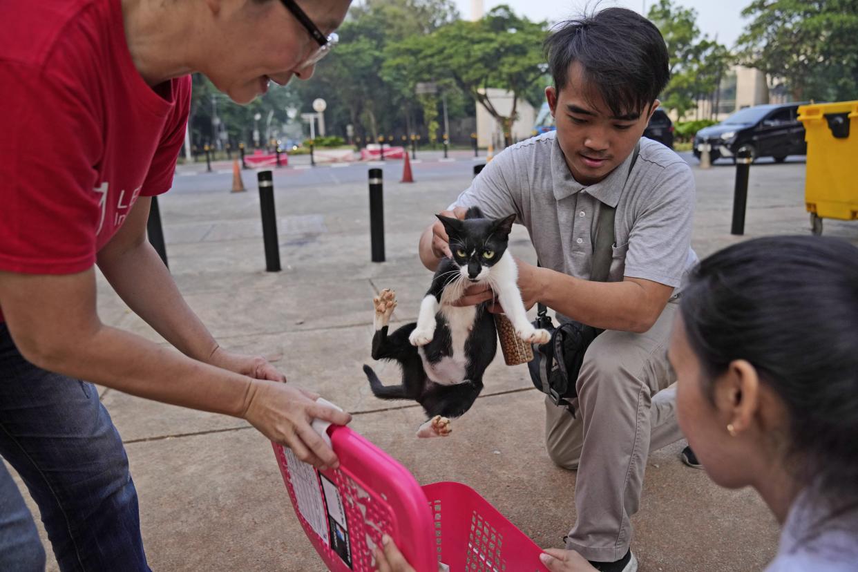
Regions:
<svg viewBox="0 0 858 572"><path fill-rule="evenodd" d="M149 570L128 457L94 385L27 362L3 323L0 456L39 505L63 572ZM33 517L0 462L0 570L44 567Z"/></svg>

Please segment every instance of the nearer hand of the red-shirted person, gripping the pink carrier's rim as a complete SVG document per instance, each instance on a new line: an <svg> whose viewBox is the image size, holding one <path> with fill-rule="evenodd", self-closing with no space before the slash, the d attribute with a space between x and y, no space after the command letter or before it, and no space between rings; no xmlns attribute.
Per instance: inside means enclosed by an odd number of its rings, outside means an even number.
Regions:
<svg viewBox="0 0 858 572"><path fill-rule="evenodd" d="M269 380L251 382L242 415L265 437L287 446L301 461L325 470L339 467L334 451L313 430L314 418L345 425L346 412L316 403L317 394L294 385Z"/></svg>

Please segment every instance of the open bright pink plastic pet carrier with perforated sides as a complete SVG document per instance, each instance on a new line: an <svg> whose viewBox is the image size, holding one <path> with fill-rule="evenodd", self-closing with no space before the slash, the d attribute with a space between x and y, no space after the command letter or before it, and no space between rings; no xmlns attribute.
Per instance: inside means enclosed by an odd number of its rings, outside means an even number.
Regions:
<svg viewBox="0 0 858 572"><path fill-rule="evenodd" d="M408 469L348 427L327 430L340 467L324 472L274 444L295 514L335 572L375 570L387 533L417 572L544 572L541 549L473 489L420 486Z"/></svg>

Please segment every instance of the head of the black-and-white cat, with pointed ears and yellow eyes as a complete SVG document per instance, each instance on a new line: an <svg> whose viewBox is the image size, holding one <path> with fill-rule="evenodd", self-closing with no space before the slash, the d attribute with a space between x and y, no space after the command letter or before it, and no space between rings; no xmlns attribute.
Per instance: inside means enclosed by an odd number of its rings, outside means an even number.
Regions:
<svg viewBox="0 0 858 572"><path fill-rule="evenodd" d="M471 282L485 280L489 269L504 256L516 215L497 220L436 216L450 237L450 252L462 276Z"/></svg>

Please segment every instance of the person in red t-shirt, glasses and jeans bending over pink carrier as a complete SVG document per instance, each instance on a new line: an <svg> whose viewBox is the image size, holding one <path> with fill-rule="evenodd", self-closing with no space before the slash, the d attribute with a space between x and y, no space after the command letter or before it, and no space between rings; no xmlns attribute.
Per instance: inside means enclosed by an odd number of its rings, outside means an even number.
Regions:
<svg viewBox="0 0 858 572"><path fill-rule="evenodd" d="M0 455L39 504L60 569L148 570L127 457L92 382L245 418L299 458L337 465L310 423L346 424L347 413L317 405L264 358L218 346L146 222L151 197L172 184L188 74L238 103L269 81L307 79L348 4L0 3ZM100 322L95 265L181 353ZM0 461L0 569L44 567Z"/></svg>

